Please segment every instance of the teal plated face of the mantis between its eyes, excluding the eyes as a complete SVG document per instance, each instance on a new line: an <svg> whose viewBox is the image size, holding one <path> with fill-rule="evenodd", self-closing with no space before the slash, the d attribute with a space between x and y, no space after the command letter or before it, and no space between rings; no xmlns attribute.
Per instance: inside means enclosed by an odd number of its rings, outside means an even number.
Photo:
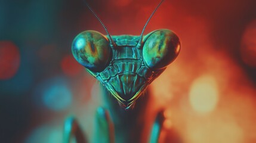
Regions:
<svg viewBox="0 0 256 143"><path fill-rule="evenodd" d="M139 36L113 36L117 47L113 49L109 66L100 73L88 70L125 108L131 107L147 85L164 71L152 71L145 66L142 50L135 46L138 38Z"/></svg>

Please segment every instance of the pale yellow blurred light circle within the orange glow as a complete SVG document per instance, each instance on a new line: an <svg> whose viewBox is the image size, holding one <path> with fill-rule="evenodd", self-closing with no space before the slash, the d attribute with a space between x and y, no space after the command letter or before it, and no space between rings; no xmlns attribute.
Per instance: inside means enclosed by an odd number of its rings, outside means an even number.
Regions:
<svg viewBox="0 0 256 143"><path fill-rule="evenodd" d="M189 101L198 113L214 110L218 102L218 87L214 77L203 75L194 80L190 87Z"/></svg>

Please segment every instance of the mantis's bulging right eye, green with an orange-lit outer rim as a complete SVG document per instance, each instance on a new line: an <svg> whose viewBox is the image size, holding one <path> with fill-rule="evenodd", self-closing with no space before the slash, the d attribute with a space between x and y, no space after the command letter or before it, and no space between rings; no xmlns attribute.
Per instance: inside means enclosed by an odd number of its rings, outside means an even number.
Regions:
<svg viewBox="0 0 256 143"><path fill-rule="evenodd" d="M175 60L180 52L180 39L168 29L159 29L147 35L143 45L143 59L150 69L162 69Z"/></svg>

